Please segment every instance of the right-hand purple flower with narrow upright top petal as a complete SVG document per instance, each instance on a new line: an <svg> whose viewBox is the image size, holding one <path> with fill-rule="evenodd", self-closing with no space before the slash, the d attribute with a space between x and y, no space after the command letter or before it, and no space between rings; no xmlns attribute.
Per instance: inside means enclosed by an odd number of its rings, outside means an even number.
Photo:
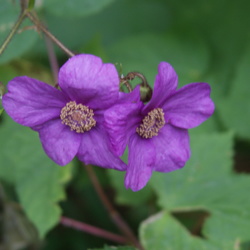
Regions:
<svg viewBox="0 0 250 250"><path fill-rule="evenodd" d="M118 104L105 112L113 152L121 156L128 145L126 188L142 189L153 171L182 168L190 157L187 129L198 126L214 111L208 84L192 83L176 90L177 84L172 66L161 62L153 96L146 105Z"/></svg>

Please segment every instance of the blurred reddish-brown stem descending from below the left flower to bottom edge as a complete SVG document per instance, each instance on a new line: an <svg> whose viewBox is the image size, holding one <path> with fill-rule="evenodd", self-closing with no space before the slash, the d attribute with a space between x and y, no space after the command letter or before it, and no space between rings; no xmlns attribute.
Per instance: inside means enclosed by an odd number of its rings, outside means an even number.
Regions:
<svg viewBox="0 0 250 250"><path fill-rule="evenodd" d="M120 231L138 248L143 249L135 235L133 234L132 230L129 228L127 223L121 218L120 214L115 210L115 208L112 206L110 201L108 200L107 196L105 195L96 175L95 172L92 169L91 165L84 165L85 169L92 181L92 184L101 199L103 205L106 207L106 209L109 212L109 215L113 222L117 225L117 227L120 229Z"/></svg>

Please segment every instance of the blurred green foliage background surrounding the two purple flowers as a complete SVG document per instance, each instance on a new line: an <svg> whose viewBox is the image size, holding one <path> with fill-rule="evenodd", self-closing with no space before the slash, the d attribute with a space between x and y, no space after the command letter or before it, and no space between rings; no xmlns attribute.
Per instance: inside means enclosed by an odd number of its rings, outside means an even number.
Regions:
<svg viewBox="0 0 250 250"><path fill-rule="evenodd" d="M250 249L249 8L246 0L36 1L39 18L75 53L117 63L123 74L139 71L152 86L168 61L179 86L212 87L216 111L190 131L184 169L155 173L133 193L124 173L95 168L145 249ZM19 11L17 0L0 0L0 43ZM0 56L3 85L18 75L54 83L44 37L31 25ZM62 65L67 56L54 47ZM117 233L80 164L57 166L36 133L4 112L0 119L0 249L111 249L113 242L58 224L64 214Z"/></svg>

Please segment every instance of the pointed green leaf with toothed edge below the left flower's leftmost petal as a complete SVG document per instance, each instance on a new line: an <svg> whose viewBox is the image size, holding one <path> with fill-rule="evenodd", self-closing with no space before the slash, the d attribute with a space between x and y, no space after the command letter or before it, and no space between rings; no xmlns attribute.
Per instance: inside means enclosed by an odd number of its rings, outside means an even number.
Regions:
<svg viewBox="0 0 250 250"><path fill-rule="evenodd" d="M1 123L0 138L5 142L0 154L0 178L15 185L26 215L42 238L59 221L57 203L65 198L63 186L70 179L71 167L52 162L38 134L7 116Z"/></svg>

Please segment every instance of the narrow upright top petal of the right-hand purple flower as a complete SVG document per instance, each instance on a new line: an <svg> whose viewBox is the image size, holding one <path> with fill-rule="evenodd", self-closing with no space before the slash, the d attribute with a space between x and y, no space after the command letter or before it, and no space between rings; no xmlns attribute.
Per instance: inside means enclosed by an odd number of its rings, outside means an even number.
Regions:
<svg viewBox="0 0 250 250"><path fill-rule="evenodd" d="M155 78L152 98L144 108L145 113L161 107L165 100L176 90L177 86L178 76L174 68L169 63L161 62L158 65L158 74Z"/></svg>

